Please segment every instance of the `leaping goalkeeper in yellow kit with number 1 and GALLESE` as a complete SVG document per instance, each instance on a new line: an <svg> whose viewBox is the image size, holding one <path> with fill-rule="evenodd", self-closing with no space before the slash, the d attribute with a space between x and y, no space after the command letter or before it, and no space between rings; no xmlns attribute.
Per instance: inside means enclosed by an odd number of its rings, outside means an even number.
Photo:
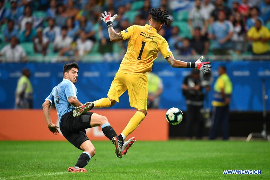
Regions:
<svg viewBox="0 0 270 180"><path fill-rule="evenodd" d="M136 113L122 133L113 139L120 147L122 147L125 138L139 126L147 114L148 81L146 73L152 70L153 61L158 57L159 51L172 67L196 68L203 73L209 72L209 68L212 67L208 65L210 62L201 61L203 56L196 62L179 61L173 57L167 41L158 34L162 26L166 25L169 20L167 12L167 10L161 11L160 8L158 10L151 9L152 18L149 20L149 25L133 25L119 33L115 32L112 23L117 15L111 17L110 12L108 14L106 11L101 13L103 17L100 19L107 23L110 40L117 42L129 39L128 49L113 79L107 94L108 98L101 98L92 103L87 102L77 107L73 116L80 116L92 108L112 107L116 102L119 102L119 97L128 90L130 106L136 109ZM124 155L127 149L122 149L122 151ZM121 158L122 154L117 154L117 156Z"/></svg>

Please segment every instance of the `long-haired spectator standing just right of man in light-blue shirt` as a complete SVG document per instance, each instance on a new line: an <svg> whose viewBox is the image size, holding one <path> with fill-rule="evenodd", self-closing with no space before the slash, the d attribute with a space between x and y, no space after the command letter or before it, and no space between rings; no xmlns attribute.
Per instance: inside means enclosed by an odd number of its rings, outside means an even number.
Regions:
<svg viewBox="0 0 270 180"><path fill-rule="evenodd" d="M233 18L233 35L232 35L232 49L238 54L245 50L245 36L246 30L244 20L240 13L235 13Z"/></svg>

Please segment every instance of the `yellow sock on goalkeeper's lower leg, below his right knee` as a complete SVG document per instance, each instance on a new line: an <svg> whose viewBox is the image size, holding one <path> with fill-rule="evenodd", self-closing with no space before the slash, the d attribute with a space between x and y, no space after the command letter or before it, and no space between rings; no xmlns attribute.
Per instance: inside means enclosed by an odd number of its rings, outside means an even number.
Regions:
<svg viewBox="0 0 270 180"><path fill-rule="evenodd" d="M125 137L127 137L129 134L131 134L136 128L138 128L140 122L143 121L143 119L145 118L145 115L140 112L140 111L136 111L136 113L134 114L134 116L129 120L128 125L125 127L125 129L123 130L123 134L125 135Z"/></svg>

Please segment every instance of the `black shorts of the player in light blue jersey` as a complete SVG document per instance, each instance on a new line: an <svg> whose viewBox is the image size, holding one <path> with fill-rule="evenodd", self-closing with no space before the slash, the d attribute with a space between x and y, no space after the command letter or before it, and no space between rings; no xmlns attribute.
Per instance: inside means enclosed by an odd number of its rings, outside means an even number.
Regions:
<svg viewBox="0 0 270 180"><path fill-rule="evenodd" d="M90 122L93 113L86 112L79 117L73 117L72 113L73 111L70 111L62 116L60 131L71 144L80 149L81 144L89 140L85 129L91 128Z"/></svg>

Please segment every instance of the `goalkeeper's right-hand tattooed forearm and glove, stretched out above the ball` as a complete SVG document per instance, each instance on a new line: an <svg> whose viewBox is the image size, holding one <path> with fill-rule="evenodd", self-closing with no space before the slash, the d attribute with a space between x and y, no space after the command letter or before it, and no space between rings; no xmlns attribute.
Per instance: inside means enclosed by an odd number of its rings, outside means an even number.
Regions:
<svg viewBox="0 0 270 180"><path fill-rule="evenodd" d="M176 60L173 55L165 58L169 64L172 67L182 67L182 68L196 68L200 71L202 71L204 74L207 72L210 72L210 69L212 66L208 65L210 64L210 62L202 62L203 59L203 55L196 61L196 62L184 62L184 61L180 61L180 60Z"/></svg>

